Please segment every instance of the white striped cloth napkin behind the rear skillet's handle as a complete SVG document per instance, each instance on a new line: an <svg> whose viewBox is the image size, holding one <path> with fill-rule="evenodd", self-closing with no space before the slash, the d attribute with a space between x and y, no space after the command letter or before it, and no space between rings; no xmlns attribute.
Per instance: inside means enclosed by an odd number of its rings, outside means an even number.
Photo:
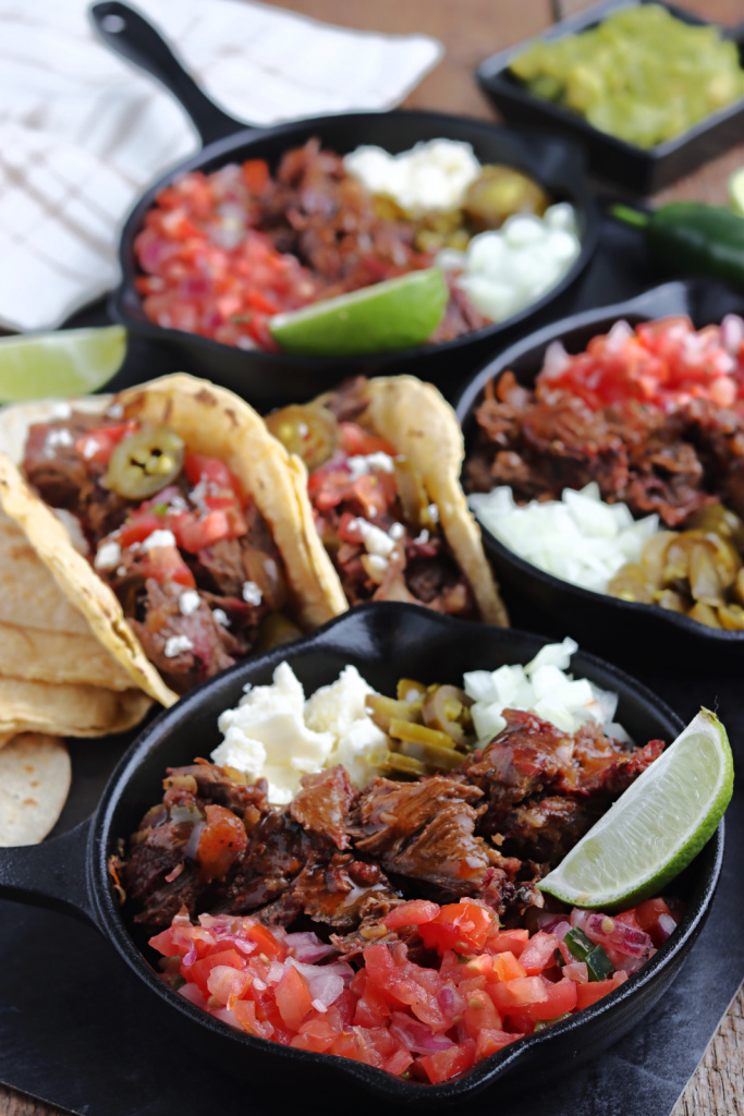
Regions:
<svg viewBox="0 0 744 1116"><path fill-rule="evenodd" d="M249 0L138 9L218 104L259 125L392 108L443 54ZM0 0L0 326L54 328L114 287L132 204L197 148L170 95L103 46L85 0Z"/></svg>

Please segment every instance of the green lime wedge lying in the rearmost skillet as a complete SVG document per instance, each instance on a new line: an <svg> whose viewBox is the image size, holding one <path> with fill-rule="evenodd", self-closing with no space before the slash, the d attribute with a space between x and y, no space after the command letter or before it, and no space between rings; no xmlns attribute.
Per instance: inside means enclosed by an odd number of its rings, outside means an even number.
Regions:
<svg viewBox="0 0 744 1116"><path fill-rule="evenodd" d="M423 345L444 316L450 297L438 268L339 295L301 310L278 314L269 328L287 353L361 356Z"/></svg>

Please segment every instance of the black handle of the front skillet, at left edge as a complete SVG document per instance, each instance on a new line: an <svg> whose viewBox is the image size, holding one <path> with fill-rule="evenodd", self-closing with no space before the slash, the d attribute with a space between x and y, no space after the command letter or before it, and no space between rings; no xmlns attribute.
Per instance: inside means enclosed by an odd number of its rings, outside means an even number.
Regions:
<svg viewBox="0 0 744 1116"><path fill-rule="evenodd" d="M88 875L93 818L41 845L0 848L0 898L71 914L98 927Z"/></svg>

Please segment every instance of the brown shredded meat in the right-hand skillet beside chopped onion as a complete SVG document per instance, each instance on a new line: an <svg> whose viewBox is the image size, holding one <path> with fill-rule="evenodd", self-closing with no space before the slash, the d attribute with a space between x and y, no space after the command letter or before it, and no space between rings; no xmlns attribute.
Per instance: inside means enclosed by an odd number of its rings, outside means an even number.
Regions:
<svg viewBox="0 0 744 1116"><path fill-rule="evenodd" d="M597 481L603 500L678 527L718 499L744 514L744 420L709 400L667 414L636 402L592 410L563 389L491 382L465 465L468 492L509 485L518 501L560 500Z"/></svg>

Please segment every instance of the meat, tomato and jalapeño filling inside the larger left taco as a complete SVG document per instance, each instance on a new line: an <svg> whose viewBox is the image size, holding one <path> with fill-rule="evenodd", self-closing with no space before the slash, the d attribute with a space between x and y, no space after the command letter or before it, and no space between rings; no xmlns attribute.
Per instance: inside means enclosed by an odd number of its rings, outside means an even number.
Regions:
<svg viewBox="0 0 744 1116"><path fill-rule="evenodd" d="M299 633L271 531L238 478L167 425L73 411L29 430L23 471L64 509L177 693Z"/></svg>

